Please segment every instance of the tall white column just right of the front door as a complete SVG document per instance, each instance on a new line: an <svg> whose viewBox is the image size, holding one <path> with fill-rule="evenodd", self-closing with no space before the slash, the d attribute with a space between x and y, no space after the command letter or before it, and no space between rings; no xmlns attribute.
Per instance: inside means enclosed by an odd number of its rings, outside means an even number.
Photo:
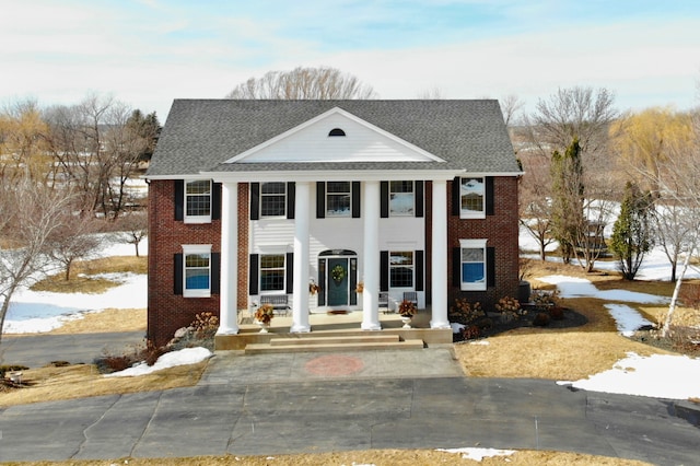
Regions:
<svg viewBox="0 0 700 466"><path fill-rule="evenodd" d="M362 292L363 330L381 330L380 324L380 182L364 183L364 252L362 254L364 291Z"/></svg>

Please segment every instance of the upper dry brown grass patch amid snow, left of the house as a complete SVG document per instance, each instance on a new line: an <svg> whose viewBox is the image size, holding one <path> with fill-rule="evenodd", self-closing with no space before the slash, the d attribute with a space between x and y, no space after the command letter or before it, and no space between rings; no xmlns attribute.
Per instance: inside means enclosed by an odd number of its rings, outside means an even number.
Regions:
<svg viewBox="0 0 700 466"><path fill-rule="evenodd" d="M51 291L55 293L104 293L119 282L96 273L147 273L148 257L114 256L94 260L80 260L73 264L70 280L65 272L51 275L32 286L34 291Z"/></svg>

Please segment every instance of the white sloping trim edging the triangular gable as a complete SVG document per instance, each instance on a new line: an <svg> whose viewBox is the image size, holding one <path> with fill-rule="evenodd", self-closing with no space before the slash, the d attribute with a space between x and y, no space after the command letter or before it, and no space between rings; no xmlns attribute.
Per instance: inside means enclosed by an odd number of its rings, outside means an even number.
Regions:
<svg viewBox="0 0 700 466"><path fill-rule="evenodd" d="M254 148L248 149L245 152L242 152L229 160L226 160L224 163L245 163L246 159L252 159L254 154L260 153L261 151L264 151L267 148L270 148L277 143L280 143L281 141L290 138L293 135L299 133L300 131L303 131L306 128L310 128L327 118L329 118L330 116L334 115L340 115L345 118L348 118L350 120L352 120L353 123L361 125L368 129L370 129L371 131L387 138L394 142L396 142L399 145L402 145L407 149L407 151L413 152L419 154L420 156L424 158L424 160L422 160L423 162L445 162L443 159L419 148L418 145L411 144L408 141L405 141L404 139L383 130L382 128L378 128L365 120L363 120L362 118L357 117L355 115L352 115L349 112L343 110L342 108L339 107L334 107L331 109L329 109L328 112L325 112L288 131L282 132L281 135L276 136L275 138L271 138ZM412 160L413 162L420 162L420 160ZM259 162L259 161L253 161L253 162ZM273 163L273 161L265 161L265 162L269 162L269 163ZM289 161L288 161L289 162ZM299 162L315 162L315 161L308 161L308 160L300 160ZM320 161L318 161L320 162ZM323 160L324 163L328 163L328 162L332 162L332 160ZM347 160L338 160L338 162L348 162ZM371 161L368 161L371 162ZM385 160L375 160L375 162L385 162Z"/></svg>

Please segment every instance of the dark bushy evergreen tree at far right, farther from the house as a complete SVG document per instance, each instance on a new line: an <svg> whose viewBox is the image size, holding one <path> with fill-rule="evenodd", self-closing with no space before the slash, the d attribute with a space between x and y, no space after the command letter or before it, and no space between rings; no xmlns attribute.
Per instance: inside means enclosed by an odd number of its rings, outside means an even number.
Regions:
<svg viewBox="0 0 700 466"><path fill-rule="evenodd" d="M634 280L644 255L653 245L651 214L651 194L642 193L637 184L627 182L620 215L615 221L610 238L610 248L617 255L618 267L627 280Z"/></svg>

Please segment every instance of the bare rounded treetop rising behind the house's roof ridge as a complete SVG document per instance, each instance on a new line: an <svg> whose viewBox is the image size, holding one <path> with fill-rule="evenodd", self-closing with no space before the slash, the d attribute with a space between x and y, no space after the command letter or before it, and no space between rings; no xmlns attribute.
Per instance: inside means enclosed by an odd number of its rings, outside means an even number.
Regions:
<svg viewBox="0 0 700 466"><path fill-rule="evenodd" d="M374 98L376 93L351 74L335 68L294 68L268 71L262 78L249 78L226 98L331 100Z"/></svg>

